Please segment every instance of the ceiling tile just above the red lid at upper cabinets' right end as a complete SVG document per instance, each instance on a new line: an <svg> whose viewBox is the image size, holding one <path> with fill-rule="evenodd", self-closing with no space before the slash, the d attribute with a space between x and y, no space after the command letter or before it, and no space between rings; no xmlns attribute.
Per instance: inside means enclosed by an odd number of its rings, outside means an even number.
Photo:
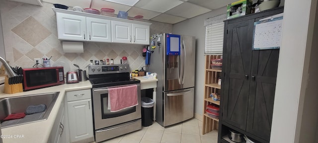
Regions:
<svg viewBox="0 0 318 143"><path fill-rule="evenodd" d="M150 11L150 10L142 9L142 8L138 8L138 7L131 7L128 10L128 16L135 17L137 15L142 15L142 16L144 16L144 19L147 19L147 20L154 18L159 14L160 14L159 12Z"/></svg>

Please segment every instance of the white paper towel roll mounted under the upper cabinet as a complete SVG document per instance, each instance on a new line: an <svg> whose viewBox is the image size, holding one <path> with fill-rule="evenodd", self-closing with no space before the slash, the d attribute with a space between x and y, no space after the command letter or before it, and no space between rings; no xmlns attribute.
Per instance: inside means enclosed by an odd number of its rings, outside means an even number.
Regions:
<svg viewBox="0 0 318 143"><path fill-rule="evenodd" d="M83 42L62 42L64 53L84 53Z"/></svg>

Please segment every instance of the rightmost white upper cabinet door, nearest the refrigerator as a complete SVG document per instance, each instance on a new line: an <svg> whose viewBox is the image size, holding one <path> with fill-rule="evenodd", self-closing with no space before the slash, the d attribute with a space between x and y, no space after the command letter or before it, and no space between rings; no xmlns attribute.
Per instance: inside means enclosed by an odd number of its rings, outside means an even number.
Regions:
<svg viewBox="0 0 318 143"><path fill-rule="evenodd" d="M133 24L133 43L149 45L149 26Z"/></svg>

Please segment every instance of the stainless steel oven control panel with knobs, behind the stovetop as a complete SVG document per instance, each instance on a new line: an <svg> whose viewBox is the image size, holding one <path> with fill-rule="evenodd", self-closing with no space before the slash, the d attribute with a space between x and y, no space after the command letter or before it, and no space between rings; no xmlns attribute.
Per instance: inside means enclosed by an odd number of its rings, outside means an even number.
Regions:
<svg viewBox="0 0 318 143"><path fill-rule="evenodd" d="M91 65L88 66L88 74L129 72L128 64L119 65Z"/></svg>

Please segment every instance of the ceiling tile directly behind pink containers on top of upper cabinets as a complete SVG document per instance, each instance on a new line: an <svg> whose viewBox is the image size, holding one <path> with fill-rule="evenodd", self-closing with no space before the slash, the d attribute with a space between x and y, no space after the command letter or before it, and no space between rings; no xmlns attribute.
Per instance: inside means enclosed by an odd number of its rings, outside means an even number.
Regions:
<svg viewBox="0 0 318 143"><path fill-rule="evenodd" d="M100 10L101 8L112 8L115 9L115 14L118 14L118 11L128 11L131 8L131 6L109 2L105 0L93 0L91 8L97 10Z"/></svg>

